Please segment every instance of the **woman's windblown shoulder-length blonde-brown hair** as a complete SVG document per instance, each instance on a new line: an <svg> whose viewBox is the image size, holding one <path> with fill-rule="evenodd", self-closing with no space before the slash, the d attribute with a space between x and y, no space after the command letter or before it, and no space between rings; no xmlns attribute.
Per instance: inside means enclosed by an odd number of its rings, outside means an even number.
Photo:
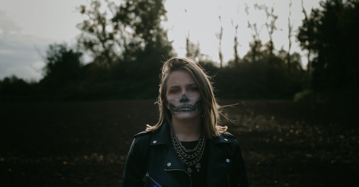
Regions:
<svg viewBox="0 0 359 187"><path fill-rule="evenodd" d="M211 78L205 73L204 69L188 58L175 57L168 59L162 67L162 76L159 85L159 94L157 104L159 107L159 121L156 125L146 125L146 130L152 131L158 129L165 121L168 123L172 119L171 112L167 109L165 104L166 99L166 82L167 77L173 71L185 70L196 81L201 94L202 112L203 112L203 133L207 139L211 139L216 136L220 136L227 130L227 126L220 125L220 106L218 105L214 94Z"/></svg>

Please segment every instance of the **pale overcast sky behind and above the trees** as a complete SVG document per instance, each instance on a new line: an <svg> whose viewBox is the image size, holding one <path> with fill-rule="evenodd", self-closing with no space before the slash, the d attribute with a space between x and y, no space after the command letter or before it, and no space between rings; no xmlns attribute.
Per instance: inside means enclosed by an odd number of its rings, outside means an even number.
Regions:
<svg viewBox="0 0 359 187"><path fill-rule="evenodd" d="M320 0L304 0L307 13L319 7ZM20 2L20 3L19 3ZM120 1L115 1L117 4ZM274 5L273 5L274 2ZM290 0L167 0L165 9L167 21L162 22L168 30L168 39L179 57L186 54L186 35L190 40L200 44L201 53L219 62L219 40L216 33L223 27L222 52L227 62L234 58L233 38L236 34L233 25L238 24L238 53L242 58L249 50L252 30L247 27L249 21L257 23L260 39L263 43L269 40L267 29L262 25L267 21L264 10L256 10L253 4L274 6L274 14L278 15L273 34L275 49L283 47L288 50L288 15ZM49 44L67 43L76 45L76 38L81 33L76 28L86 16L77 11L80 5L89 5L90 0L1 0L0 6L0 79L15 75L27 81L38 81L45 66L43 57ZM103 3L102 10L106 10ZM245 7L248 6L248 15ZM304 18L300 0L292 1L290 21L294 32L290 53L302 55L302 65L306 67L306 51L302 51L295 40L295 34ZM109 15L111 16L111 15ZM221 21L219 20L221 16ZM233 25L232 25L233 23ZM90 58L84 58L85 63Z"/></svg>

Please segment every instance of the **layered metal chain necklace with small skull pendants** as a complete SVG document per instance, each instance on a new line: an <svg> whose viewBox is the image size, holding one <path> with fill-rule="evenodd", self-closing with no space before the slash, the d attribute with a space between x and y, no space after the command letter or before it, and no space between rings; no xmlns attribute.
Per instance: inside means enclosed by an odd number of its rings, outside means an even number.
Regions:
<svg viewBox="0 0 359 187"><path fill-rule="evenodd" d="M173 144L174 149L178 157L180 157L183 164L187 166L188 174L193 172L191 166L195 165L196 171L199 172L201 169L201 164L199 160L202 157L204 147L206 144L206 139L204 134L202 133L200 138L198 139L197 145L193 149L186 149L183 147L180 139L178 139L177 135L174 133L172 120L171 120L171 142Z"/></svg>

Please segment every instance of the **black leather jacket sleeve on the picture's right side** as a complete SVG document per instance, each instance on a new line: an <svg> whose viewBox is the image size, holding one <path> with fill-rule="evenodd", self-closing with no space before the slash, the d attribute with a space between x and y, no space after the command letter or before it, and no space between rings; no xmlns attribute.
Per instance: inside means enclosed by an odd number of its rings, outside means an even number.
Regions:
<svg viewBox="0 0 359 187"><path fill-rule="evenodd" d="M234 167L232 167L232 172L231 172L234 176L232 176L233 183L230 186L248 187L249 184L247 179L247 172L246 172L246 167L244 165L241 148L239 148L239 144L237 140L235 140L235 142L236 145L235 145L235 151L233 157Z"/></svg>

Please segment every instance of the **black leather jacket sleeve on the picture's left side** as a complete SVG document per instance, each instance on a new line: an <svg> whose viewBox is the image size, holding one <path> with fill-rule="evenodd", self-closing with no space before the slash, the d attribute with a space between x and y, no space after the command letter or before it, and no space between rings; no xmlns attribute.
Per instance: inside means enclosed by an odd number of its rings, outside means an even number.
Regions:
<svg viewBox="0 0 359 187"><path fill-rule="evenodd" d="M142 138L142 137L139 137ZM143 178L146 174L146 146L140 146L138 138L132 141L127 155L125 170L123 171L122 187L144 186Z"/></svg>

